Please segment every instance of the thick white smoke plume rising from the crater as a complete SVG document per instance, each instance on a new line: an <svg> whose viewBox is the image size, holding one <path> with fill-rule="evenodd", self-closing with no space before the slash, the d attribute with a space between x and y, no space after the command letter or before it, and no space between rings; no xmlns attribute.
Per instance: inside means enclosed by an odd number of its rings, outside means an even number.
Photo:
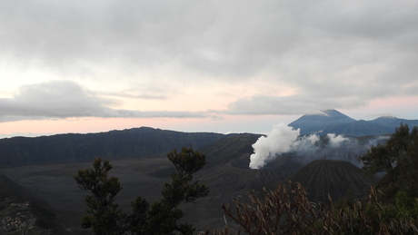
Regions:
<svg viewBox="0 0 418 235"><path fill-rule="evenodd" d="M277 155L285 152L313 152L320 137L316 134L299 136L300 130L294 130L284 123L274 125L273 130L266 137L260 137L253 144L254 153L250 156L250 168L263 168L267 162L273 161ZM338 147L348 139L342 135L328 134L329 145Z"/></svg>

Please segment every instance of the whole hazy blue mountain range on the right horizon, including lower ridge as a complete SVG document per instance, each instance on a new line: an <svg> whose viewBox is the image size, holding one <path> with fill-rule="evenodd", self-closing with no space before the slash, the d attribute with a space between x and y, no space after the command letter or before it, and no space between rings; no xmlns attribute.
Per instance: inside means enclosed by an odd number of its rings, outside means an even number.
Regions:
<svg viewBox="0 0 418 235"><path fill-rule="evenodd" d="M418 120L399 119L396 117L380 117L372 121L356 121L336 110L325 110L319 113L307 113L298 118L289 126L300 128L301 134L327 133L343 134L348 136L367 136L391 134L401 123L418 126Z"/></svg>

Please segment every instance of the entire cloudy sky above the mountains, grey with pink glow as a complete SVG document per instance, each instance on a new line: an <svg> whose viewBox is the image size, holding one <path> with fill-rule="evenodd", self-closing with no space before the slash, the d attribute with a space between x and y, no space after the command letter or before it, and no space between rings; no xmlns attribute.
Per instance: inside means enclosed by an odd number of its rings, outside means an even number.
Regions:
<svg viewBox="0 0 418 235"><path fill-rule="evenodd" d="M0 137L418 119L416 1L0 2Z"/></svg>

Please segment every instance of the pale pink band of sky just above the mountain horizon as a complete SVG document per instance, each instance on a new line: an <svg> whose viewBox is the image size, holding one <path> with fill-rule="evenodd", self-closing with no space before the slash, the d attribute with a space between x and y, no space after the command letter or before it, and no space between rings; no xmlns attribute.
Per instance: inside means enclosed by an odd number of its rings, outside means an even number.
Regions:
<svg viewBox="0 0 418 235"><path fill-rule="evenodd" d="M359 109L339 110L356 119L373 120L383 115L418 119L418 97L376 99ZM207 118L67 118L0 122L0 136L37 136L67 132L108 132L148 126L179 132L254 132L267 133L274 124L288 124L301 115L225 115L223 119Z"/></svg>

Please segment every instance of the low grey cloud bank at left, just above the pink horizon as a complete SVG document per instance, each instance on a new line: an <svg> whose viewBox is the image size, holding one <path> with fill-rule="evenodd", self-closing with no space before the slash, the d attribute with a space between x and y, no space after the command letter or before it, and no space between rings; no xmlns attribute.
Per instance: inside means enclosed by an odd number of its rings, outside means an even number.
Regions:
<svg viewBox="0 0 418 235"><path fill-rule="evenodd" d="M199 112L117 110L109 105L117 101L100 98L71 81L50 81L20 87L10 99L0 99L0 122L68 117L152 118L206 117Z"/></svg>

